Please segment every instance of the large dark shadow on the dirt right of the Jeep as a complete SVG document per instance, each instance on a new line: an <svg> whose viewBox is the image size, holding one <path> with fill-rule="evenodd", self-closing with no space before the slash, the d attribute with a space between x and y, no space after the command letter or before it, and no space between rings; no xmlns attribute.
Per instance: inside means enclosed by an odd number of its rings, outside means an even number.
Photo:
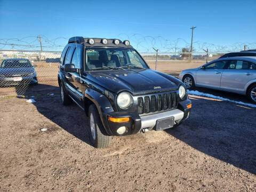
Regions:
<svg viewBox="0 0 256 192"><path fill-rule="evenodd" d="M256 174L255 108L208 98L191 101L189 119L166 132L204 154Z"/></svg>

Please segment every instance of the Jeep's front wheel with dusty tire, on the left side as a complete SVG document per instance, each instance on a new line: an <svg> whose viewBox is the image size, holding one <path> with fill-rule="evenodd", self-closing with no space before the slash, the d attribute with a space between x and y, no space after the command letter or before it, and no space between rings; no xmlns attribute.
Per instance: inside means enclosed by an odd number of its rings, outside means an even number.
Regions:
<svg viewBox="0 0 256 192"><path fill-rule="evenodd" d="M101 123L100 116L94 104L89 107L89 127L90 140L95 148L105 148L109 146L111 136L108 136Z"/></svg>

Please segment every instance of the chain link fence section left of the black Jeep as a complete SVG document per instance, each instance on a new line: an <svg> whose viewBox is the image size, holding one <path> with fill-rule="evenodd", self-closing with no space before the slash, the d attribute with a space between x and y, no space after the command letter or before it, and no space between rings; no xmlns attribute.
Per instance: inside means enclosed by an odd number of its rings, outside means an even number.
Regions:
<svg viewBox="0 0 256 192"><path fill-rule="evenodd" d="M42 89L38 84L57 86L60 55L58 51L0 50L0 97L37 94Z"/></svg>

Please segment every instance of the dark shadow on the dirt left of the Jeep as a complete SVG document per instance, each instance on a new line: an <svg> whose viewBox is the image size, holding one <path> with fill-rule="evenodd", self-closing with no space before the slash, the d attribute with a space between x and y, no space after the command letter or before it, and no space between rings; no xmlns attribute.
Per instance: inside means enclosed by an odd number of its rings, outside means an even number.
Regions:
<svg viewBox="0 0 256 192"><path fill-rule="evenodd" d="M75 103L71 103L69 106L63 106L60 102L59 87L57 86L38 84L36 89L39 91L35 92L34 89L30 87L25 94L37 95L33 98L36 100L33 105L36 106L39 113L76 138L91 145L89 127L87 125L88 120L81 108ZM50 95L52 93L54 95ZM45 127L42 125L42 128Z"/></svg>

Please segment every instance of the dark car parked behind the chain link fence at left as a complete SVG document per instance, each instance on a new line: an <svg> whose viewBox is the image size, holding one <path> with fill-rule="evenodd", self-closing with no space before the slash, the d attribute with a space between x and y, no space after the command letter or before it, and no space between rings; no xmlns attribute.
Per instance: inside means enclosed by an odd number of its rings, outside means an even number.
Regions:
<svg viewBox="0 0 256 192"><path fill-rule="evenodd" d="M4 59L0 65L0 86L37 84L37 74L28 59Z"/></svg>

